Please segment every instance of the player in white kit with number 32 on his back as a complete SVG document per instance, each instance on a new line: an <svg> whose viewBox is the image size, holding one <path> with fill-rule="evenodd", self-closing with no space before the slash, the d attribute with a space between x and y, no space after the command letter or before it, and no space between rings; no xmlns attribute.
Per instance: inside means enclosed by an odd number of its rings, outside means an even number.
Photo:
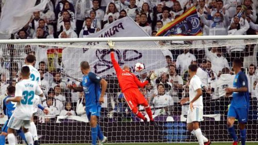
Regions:
<svg viewBox="0 0 258 145"><path fill-rule="evenodd" d="M34 96L43 97L43 91L37 82L31 81L30 68L23 66L21 68L21 81L16 84L15 97L8 98L6 102L17 102L16 108L11 116L7 126L7 138L10 145L15 145L14 130L22 127L28 145L33 145L33 138L29 132L30 119L33 115Z"/></svg>

